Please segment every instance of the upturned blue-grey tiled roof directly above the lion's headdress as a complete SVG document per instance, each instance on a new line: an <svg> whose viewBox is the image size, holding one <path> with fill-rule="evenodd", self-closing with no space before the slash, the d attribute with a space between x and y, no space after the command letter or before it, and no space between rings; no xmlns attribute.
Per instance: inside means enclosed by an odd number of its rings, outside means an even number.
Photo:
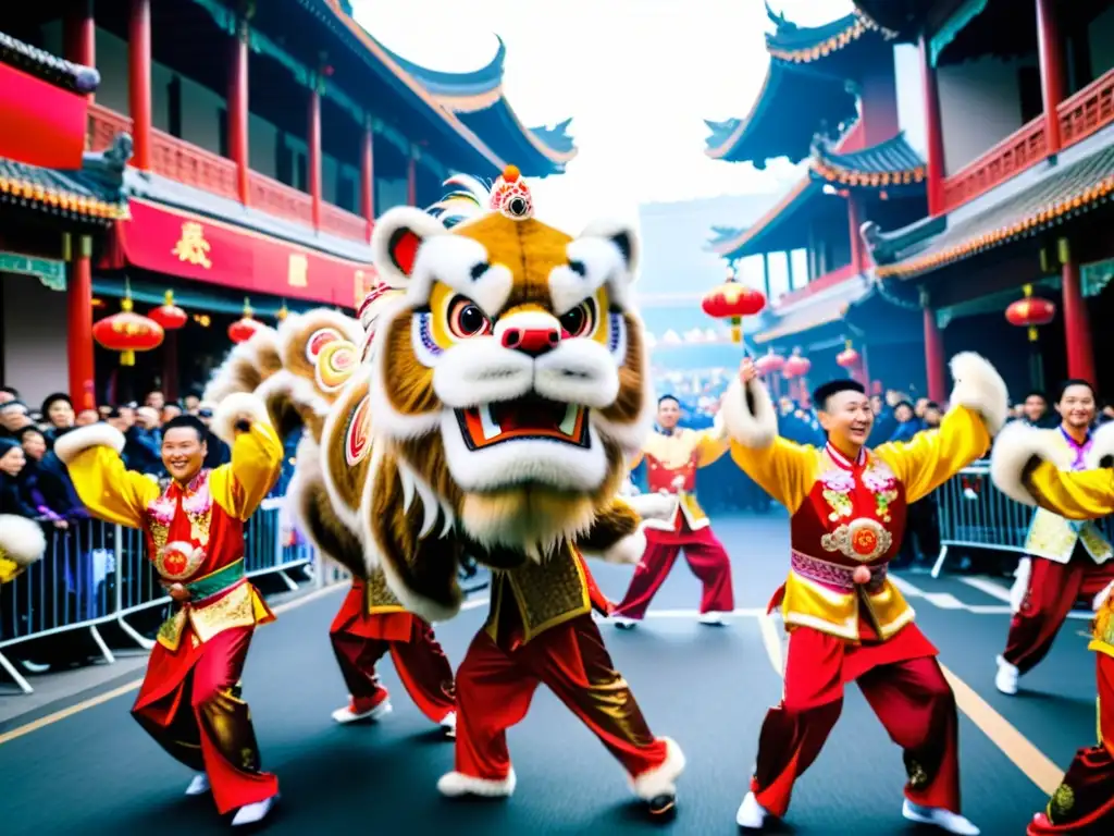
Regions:
<svg viewBox="0 0 1114 836"><path fill-rule="evenodd" d="M577 153L567 118L556 125L526 127L502 90L507 47L502 38L495 56L479 69L447 72L423 67L385 47L370 32L387 56L420 84L434 100L455 115L504 159L511 161L528 177L560 174Z"/></svg>

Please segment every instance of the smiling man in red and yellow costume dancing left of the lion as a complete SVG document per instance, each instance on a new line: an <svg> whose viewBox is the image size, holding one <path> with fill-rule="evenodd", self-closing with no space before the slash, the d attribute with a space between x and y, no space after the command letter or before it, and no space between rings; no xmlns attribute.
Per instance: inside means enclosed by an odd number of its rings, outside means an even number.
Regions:
<svg viewBox="0 0 1114 836"><path fill-rule="evenodd" d="M106 424L67 432L55 453L94 516L144 532L147 555L176 602L159 628L147 675L131 709L139 725L195 770L186 795L212 790L234 825L261 822L278 799L278 780L261 771L258 746L240 678L256 624L274 620L244 575L244 522L278 478L283 449L263 402L229 395L213 431L232 463L203 469L205 425L178 416L163 425L166 490L120 459L124 436Z"/></svg>

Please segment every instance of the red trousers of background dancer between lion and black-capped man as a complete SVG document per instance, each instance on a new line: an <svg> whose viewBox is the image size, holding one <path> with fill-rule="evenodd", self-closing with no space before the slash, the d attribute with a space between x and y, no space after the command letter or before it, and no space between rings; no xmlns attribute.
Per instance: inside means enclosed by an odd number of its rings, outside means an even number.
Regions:
<svg viewBox="0 0 1114 836"><path fill-rule="evenodd" d="M697 531L688 528L682 521L677 532L646 528L646 553L634 571L631 586L613 615L626 619L643 619L646 607L662 589L665 579L684 550L688 568L704 583L700 611L731 612L735 609L735 596L731 589L731 558L723 544L712 533L711 526Z"/></svg>

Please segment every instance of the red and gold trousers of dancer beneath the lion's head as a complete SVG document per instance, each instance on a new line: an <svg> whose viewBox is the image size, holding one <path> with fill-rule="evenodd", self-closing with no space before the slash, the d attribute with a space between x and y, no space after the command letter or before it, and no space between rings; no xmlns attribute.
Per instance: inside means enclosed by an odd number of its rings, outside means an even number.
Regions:
<svg viewBox="0 0 1114 836"><path fill-rule="evenodd" d="M632 778L662 766L655 738L634 694L615 670L590 615L546 630L515 650L480 632L457 671L458 772L502 780L510 774L507 729L526 717L544 683L599 738Z"/></svg>

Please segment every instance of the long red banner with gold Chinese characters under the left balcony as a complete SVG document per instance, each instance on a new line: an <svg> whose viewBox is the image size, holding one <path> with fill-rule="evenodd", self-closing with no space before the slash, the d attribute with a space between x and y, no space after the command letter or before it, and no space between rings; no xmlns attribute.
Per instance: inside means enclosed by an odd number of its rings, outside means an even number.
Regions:
<svg viewBox="0 0 1114 836"><path fill-rule="evenodd" d="M283 299L356 308L374 271L317 250L133 198L120 223L128 263L183 279Z"/></svg>

